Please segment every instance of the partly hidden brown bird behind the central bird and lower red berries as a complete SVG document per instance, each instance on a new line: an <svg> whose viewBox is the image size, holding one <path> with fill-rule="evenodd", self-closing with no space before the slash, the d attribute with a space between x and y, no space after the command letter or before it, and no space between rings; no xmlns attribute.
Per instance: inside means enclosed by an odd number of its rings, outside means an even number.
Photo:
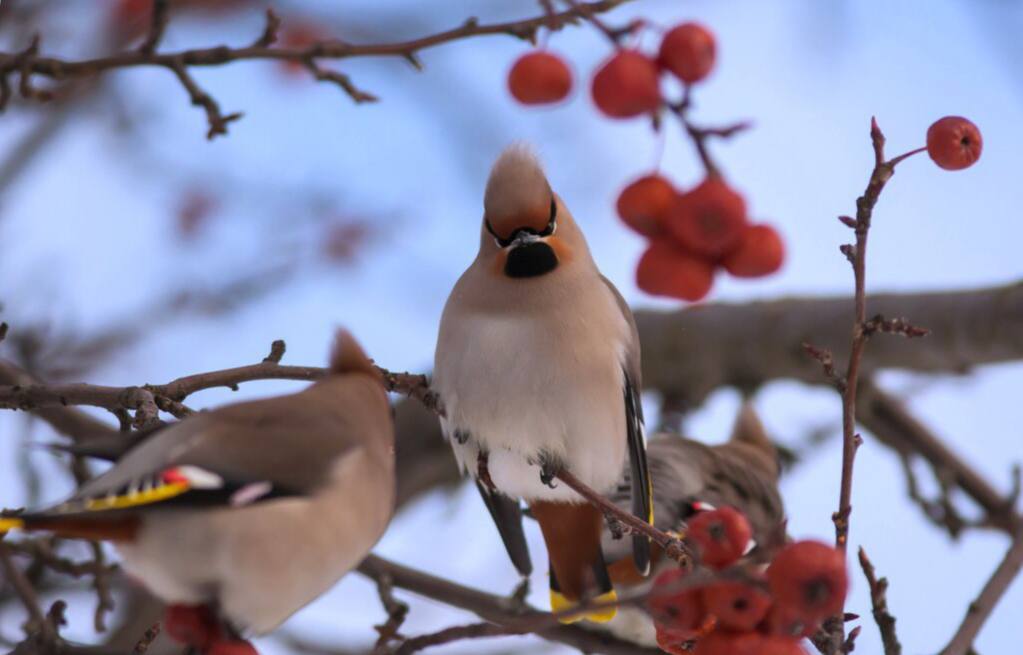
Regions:
<svg viewBox="0 0 1023 655"><path fill-rule="evenodd" d="M658 434L650 439L647 455L658 529L684 535L686 521L697 513L732 507L746 516L753 529L756 545L750 556L784 542L785 506L777 488L777 451L752 404L743 404L724 443L707 445L675 434ZM630 475L628 470L623 472L623 482L611 496L622 508L629 505ZM627 544L615 539L609 530L604 533L604 549L616 586L637 592L649 587L653 576L638 574ZM675 566L657 544L651 558L658 569ZM622 639L656 645L653 619L642 610L623 608L607 627Z"/></svg>

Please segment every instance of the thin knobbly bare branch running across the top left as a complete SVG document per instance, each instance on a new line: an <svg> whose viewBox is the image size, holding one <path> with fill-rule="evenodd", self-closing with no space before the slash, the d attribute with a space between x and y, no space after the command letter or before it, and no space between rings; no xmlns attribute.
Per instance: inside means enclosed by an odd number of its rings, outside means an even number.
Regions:
<svg viewBox="0 0 1023 655"><path fill-rule="evenodd" d="M557 31L567 25L574 25L581 18L592 18L597 13L610 11L628 0L597 0L580 3L565 11L554 12L523 20L508 23L480 24L476 17L468 18L462 25L437 34L400 41L380 44L353 44L340 39L318 41L303 47L273 47L279 19L272 11L267 12L266 27L261 36L244 47L231 48L216 46L211 48L195 48L178 52L161 53L157 51L160 39L167 24L166 1L157 0L152 25L149 34L140 48L126 50L116 54L80 60L70 60L58 57L47 57L39 54L39 40L36 37L32 45L21 52L0 52L0 111L4 108L12 95L10 79L18 77L18 92L26 99L46 100L49 92L32 86L33 76L63 81L74 78L88 78L101 75L108 71L139 67L155 67L167 69L174 73L182 87L188 92L192 104L202 106L209 123L208 138L227 133L227 124L237 120L241 114L223 115L217 101L198 86L189 73L194 67L212 67L241 60L278 60L294 61L306 68L315 79L330 82L341 87L355 102L375 100L375 96L359 90L348 76L326 71L317 64L317 59L345 59L364 56L397 56L409 61L416 69L420 68L417 53L420 50L458 41L461 39L505 34L527 41L535 41L541 28Z"/></svg>

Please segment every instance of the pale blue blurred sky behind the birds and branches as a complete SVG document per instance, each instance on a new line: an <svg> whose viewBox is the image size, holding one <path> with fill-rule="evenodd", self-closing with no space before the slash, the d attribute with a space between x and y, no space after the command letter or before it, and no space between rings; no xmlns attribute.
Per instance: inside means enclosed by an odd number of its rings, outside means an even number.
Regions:
<svg viewBox="0 0 1023 655"><path fill-rule="evenodd" d="M106 14L96 7L109 4L65 3L65 13L44 31L44 50L102 49L97 35ZM355 42L433 33L471 14L494 21L539 13L532 2L510 0L275 6L285 16L315 16ZM717 34L718 66L696 94L696 118L755 123L748 133L714 143L714 154L746 193L752 215L777 225L787 241L781 273L754 281L720 278L711 300L850 292L851 272L838 252L850 234L835 216L854 211L869 176L872 115L891 155L922 145L931 122L949 114L980 127L984 152L977 166L960 173L941 171L926 157L899 167L875 214L869 290L968 289L1023 277L1020 2L637 0L607 19L617 25L637 16L662 26L697 19ZM217 21L183 16L172 24L164 47L241 44L261 29L258 10ZM655 47L656 35L642 42ZM98 384L165 382L250 363L274 339L287 342L285 362L320 364L339 324L350 328L381 365L427 370L444 301L475 256L489 166L502 147L520 140L535 145L595 260L626 299L634 307L677 307L635 288L643 244L613 213L620 187L655 165L658 137L642 121L612 122L591 105L588 78L608 54L602 35L589 27L569 29L549 45L571 61L579 84L570 101L540 110L523 108L505 91L507 67L528 47L507 37L424 51L422 73L401 60L346 61L339 68L381 97L361 106L336 87L284 75L274 64L201 71L196 79L225 113L246 113L227 138L213 142L205 139L205 116L166 71L109 76L0 194L0 318L12 332L47 324L55 336L141 325L140 339L88 372L88 381ZM37 107L24 105L3 115L0 157L39 119ZM702 174L691 144L670 123L661 167L683 187ZM216 208L194 236L185 237L180 208L196 195L214 198ZM367 232L344 261L324 255L324 239L339 225ZM181 290L216 289L264 270L286 281L235 310L164 317ZM888 373L881 381L995 486L1008 489L1011 464L1023 460L1023 365L987 366L960 378ZM254 383L234 394L202 392L189 404L213 406L296 388ZM715 393L686 432L723 439L738 403L731 391ZM839 429L839 399L824 387L772 384L756 405L783 442L796 443L821 427ZM4 506L26 501L27 437L50 434L24 414L0 413ZM839 446L831 439L783 481L797 537L832 537ZM42 500L70 488L46 453L31 457L45 476ZM889 605L905 651L936 652L1004 555L1006 537L971 531L950 542L905 498L898 461L870 435L856 461L853 507L851 543L864 545L890 578ZM527 530L534 559L542 561L539 532L532 525ZM398 517L376 552L493 593L516 582L471 488L420 498ZM532 600L545 606L542 567L534 578ZM852 580L847 609L864 617L857 652L880 652L858 569ZM412 602L406 634L472 620L401 596ZM68 635L93 638L91 605L73 603ZM1023 583L1017 580L977 650L986 655L1018 648L1021 614ZM371 585L352 575L282 631L358 648L371 644L371 625L382 619ZM13 638L19 620L7 612L0 634ZM274 637L258 646L268 654L286 650ZM541 648L568 652L530 638L437 652Z"/></svg>

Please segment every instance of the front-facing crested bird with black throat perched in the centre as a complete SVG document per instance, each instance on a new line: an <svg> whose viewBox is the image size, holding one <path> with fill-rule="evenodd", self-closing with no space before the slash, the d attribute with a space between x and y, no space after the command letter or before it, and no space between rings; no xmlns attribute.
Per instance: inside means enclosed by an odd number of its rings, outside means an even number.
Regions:
<svg viewBox="0 0 1023 655"><path fill-rule="evenodd" d="M614 599L603 515L554 476L567 469L610 491L627 454L631 511L653 520L639 340L631 312L524 146L505 149L490 173L479 254L444 308L433 386L455 457L476 479L519 572L531 571L523 498L547 545L551 609ZM650 541L635 537L632 549L644 571ZM610 620L614 612L566 620Z"/></svg>

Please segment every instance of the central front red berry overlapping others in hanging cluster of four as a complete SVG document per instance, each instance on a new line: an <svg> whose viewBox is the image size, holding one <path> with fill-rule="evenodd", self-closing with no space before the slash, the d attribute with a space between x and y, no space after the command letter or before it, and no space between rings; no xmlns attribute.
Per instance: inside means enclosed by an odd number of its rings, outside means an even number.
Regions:
<svg viewBox="0 0 1023 655"><path fill-rule="evenodd" d="M738 247L746 226L746 201L717 176L679 195L668 217L678 243L708 257L721 257Z"/></svg>

